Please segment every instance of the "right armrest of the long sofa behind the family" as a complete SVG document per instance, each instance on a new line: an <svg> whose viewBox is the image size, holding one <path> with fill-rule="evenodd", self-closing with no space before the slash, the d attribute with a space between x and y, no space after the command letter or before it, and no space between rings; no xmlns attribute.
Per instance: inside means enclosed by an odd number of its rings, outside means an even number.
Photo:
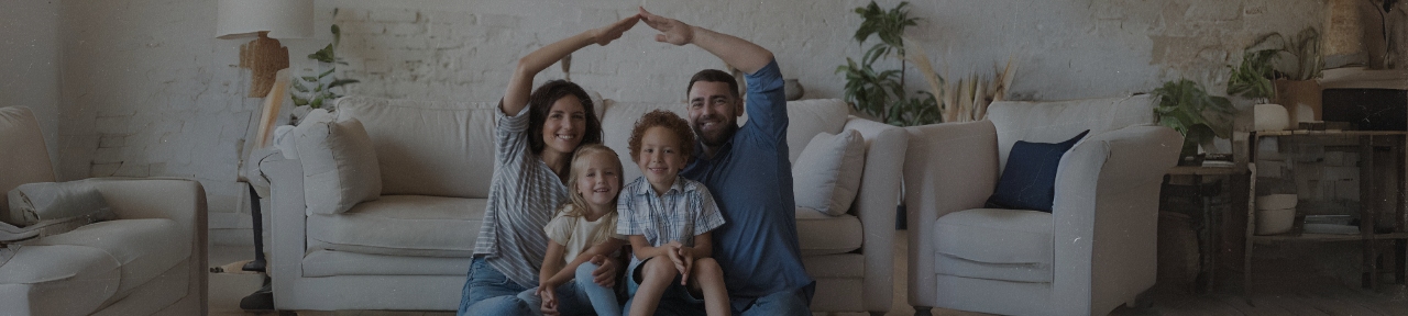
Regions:
<svg viewBox="0 0 1408 316"><path fill-rule="evenodd" d="M900 171L910 133L903 128L850 117L845 129L855 129L866 142L866 166L852 212L860 218L865 239L866 310L890 310L894 303L894 209L900 205Z"/></svg>

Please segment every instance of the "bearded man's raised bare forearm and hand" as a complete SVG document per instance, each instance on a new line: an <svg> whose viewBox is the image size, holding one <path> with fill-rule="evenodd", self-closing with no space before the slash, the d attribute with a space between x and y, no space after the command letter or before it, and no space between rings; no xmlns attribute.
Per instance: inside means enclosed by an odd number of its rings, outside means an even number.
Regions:
<svg viewBox="0 0 1408 316"><path fill-rule="evenodd" d="M660 31L655 35L656 42L674 45L694 44L696 46L714 53L725 63L732 65L743 73L755 73L773 60L773 52L758 44L743 41L728 34L710 31L707 28L689 25L673 18L650 14L641 8L641 21Z"/></svg>

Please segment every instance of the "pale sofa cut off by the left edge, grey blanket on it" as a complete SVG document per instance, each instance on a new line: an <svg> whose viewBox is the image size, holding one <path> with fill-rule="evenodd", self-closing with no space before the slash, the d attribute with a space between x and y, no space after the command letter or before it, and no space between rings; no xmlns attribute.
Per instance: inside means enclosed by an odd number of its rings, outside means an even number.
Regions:
<svg viewBox="0 0 1408 316"><path fill-rule="evenodd" d="M0 108L0 194L55 180L28 108ZM82 181L101 194L115 219L0 246L0 315L204 315L207 219L200 183ZM6 199L0 197L0 219L10 218Z"/></svg>

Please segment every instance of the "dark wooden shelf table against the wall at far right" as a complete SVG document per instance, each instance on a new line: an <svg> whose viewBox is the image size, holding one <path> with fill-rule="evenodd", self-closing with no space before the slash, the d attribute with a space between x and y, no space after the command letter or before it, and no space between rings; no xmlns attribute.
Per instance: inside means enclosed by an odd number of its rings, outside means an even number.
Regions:
<svg viewBox="0 0 1408 316"><path fill-rule="evenodd" d="M1404 205L1404 163L1405 163L1405 136L1408 132L1397 131L1264 131L1250 133L1250 159L1247 163L1247 170L1250 171L1247 194L1247 223L1246 223L1246 251L1243 251L1242 267L1243 267L1243 289L1250 292L1252 287L1252 250L1256 244L1271 244L1281 242L1360 242L1363 250L1363 264L1360 267L1362 282L1364 288L1374 288L1378 282L1380 272L1394 272L1394 281L1404 284L1405 281L1405 253L1408 253L1408 218L1405 218ZM1256 235L1256 185L1257 185L1257 149L1263 138L1277 138L1278 146L1290 146L1294 149L1300 143L1315 143L1324 146L1335 147L1353 147L1359 153L1359 204L1357 209L1350 205L1345 205L1345 209L1339 209L1339 213L1354 215L1360 218L1359 233L1357 235L1331 235L1331 233L1304 233L1301 232L1301 225L1295 225L1295 229L1290 233L1257 236ZM1376 150L1387 149L1394 159L1388 162L1376 162ZM1281 150L1287 152L1287 150ZM1295 153L1287 154L1290 157L1283 157L1284 163L1290 164L1291 178L1294 181L1294 156ZM1395 201L1391 206L1376 205L1376 201L1390 199L1380 194L1380 187L1383 183L1376 181L1383 178L1376 173L1376 166L1385 164L1391 166L1394 173L1397 173L1397 181L1390 185L1395 185L1397 190L1393 197ZM1331 205L1331 204L1326 204ZM1305 212L1302 211L1304 204L1297 206L1297 220L1301 220ZM1394 212L1394 225L1391 230L1381 229L1376 232L1376 219L1383 211ZM1300 223L1300 222L1297 222ZM1393 240L1394 242L1394 268L1391 271L1384 271L1378 268L1378 253L1374 249L1374 243L1378 240Z"/></svg>

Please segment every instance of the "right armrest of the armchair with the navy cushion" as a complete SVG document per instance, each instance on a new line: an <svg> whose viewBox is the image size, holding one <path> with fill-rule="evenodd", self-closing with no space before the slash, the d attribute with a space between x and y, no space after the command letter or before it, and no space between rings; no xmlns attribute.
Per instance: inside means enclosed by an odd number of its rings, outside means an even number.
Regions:
<svg viewBox="0 0 1408 316"><path fill-rule="evenodd" d="M1055 287L1064 289L1055 292L1112 299L1153 285L1159 184L1181 145L1170 128L1136 125L1093 135L1066 153L1052 209Z"/></svg>

